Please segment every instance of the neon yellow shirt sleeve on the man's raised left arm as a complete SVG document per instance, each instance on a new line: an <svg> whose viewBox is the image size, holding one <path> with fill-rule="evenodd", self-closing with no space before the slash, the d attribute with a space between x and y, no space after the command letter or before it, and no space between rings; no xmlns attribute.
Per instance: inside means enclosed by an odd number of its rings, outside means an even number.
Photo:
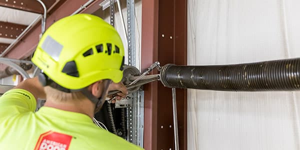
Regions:
<svg viewBox="0 0 300 150"><path fill-rule="evenodd" d="M28 111L33 112L35 108L34 96L24 89L10 89L0 97L0 119Z"/></svg>

